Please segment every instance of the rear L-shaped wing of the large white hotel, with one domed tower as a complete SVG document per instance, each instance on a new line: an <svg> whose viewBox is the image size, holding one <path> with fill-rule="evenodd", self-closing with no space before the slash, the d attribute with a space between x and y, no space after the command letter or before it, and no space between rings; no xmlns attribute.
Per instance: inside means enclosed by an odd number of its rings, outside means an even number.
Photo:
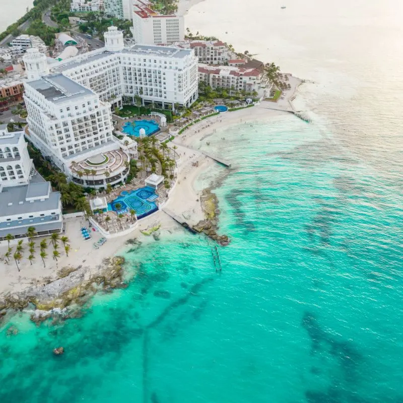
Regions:
<svg viewBox="0 0 403 403"><path fill-rule="evenodd" d="M60 72L90 88L100 100L190 106L198 97L197 58L191 49L152 45L124 47L121 32L109 27L105 47L61 62Z"/></svg>

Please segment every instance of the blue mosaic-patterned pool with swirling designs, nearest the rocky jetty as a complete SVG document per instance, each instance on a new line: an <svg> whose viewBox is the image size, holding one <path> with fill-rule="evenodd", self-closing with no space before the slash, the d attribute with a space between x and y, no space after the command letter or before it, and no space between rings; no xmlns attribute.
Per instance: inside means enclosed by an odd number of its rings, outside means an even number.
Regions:
<svg viewBox="0 0 403 403"><path fill-rule="evenodd" d="M150 186L130 191L123 190L118 197L108 203L108 210L124 214L133 209L136 211L137 218L140 219L158 210L154 201L157 197L155 189ZM117 204L121 206L119 209L116 208Z"/></svg>

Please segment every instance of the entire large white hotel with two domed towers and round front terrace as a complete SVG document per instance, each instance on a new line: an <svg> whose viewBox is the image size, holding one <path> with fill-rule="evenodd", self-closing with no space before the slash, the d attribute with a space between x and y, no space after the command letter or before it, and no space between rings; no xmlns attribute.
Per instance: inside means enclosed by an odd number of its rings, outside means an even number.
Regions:
<svg viewBox="0 0 403 403"><path fill-rule="evenodd" d="M198 96L197 58L190 49L124 48L123 35L113 26L102 49L49 69L45 56L33 48L24 63L28 138L74 181L95 188L123 181L127 162L137 158L135 141L119 141L112 134L112 107L135 96L163 107L189 106Z"/></svg>

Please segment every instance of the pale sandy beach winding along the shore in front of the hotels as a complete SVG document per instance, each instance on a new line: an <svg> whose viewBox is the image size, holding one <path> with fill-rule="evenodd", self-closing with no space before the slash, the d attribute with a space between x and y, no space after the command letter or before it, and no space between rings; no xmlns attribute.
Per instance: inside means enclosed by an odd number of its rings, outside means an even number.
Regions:
<svg viewBox="0 0 403 403"><path fill-rule="evenodd" d="M185 13L186 10L200 1L203 0L181 0L179 10ZM205 215L200 204L201 191L195 190L194 182L202 172L211 165L216 164L216 162L197 150L200 140L204 140L213 135L216 131L228 128L232 125L256 120L265 121L279 113L285 113L273 109L291 110L289 101L295 97L295 92L300 82L300 80L290 77L292 88L285 93L284 99L279 100L277 103L263 101L259 105L251 108L221 113L220 115L198 122L182 133L182 135L177 136L171 146L177 146L176 153L180 156L177 162L178 178L162 210L164 208L169 209L169 211L173 212L175 215L183 217L189 225L195 225L200 220L203 220ZM220 156L222 150L212 149L210 152L213 155ZM221 156L225 158L225 155ZM195 165L196 162L197 164ZM65 234L63 235L69 237L71 245L68 257L65 255L61 245L59 249L61 256L56 262L51 258L52 247L49 246L47 249L48 257L45 259L44 267L39 256L39 242L43 238L37 238L34 239L37 246L35 260L32 265L27 259L29 254L27 251L27 240L24 240L25 252L23 253L24 258L19 264L20 272L18 272L13 258L10 259L8 264L5 259L2 259L2 261L0 261L0 264L3 266L3 276L0 281L0 299L5 295L18 295L27 288L34 287L40 291L44 283L58 279L57 272L60 268L65 266L81 266L85 269L87 277L96 275L97 271L102 267L105 257L116 255L119 252L124 253L124 250L129 248L129 246L125 244L128 239L145 239L145 235L143 235L140 230L154 227L157 224L161 225L159 230L161 236L169 236L174 231L184 230L164 213L164 211L159 210L151 216L140 220L130 234L108 239L100 249L95 250L93 243L101 237L101 234L99 232L91 232L92 239L84 241L80 233L82 220L84 223L83 218L65 220ZM88 222L85 225L88 226ZM6 251L7 241L0 242L0 256L2 258Z"/></svg>

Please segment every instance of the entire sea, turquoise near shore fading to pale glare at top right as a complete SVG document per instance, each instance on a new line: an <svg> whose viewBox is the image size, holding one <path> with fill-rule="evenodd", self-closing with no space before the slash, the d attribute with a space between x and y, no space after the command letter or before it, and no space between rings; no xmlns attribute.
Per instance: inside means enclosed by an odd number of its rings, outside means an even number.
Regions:
<svg viewBox="0 0 403 403"><path fill-rule="evenodd" d="M1 328L0 401L403 400L401 2L289 0L280 15L251 0L232 32L242 5L198 29L312 80L296 105L314 123L279 115L196 143L232 163L197 183L219 185L222 271L204 237L142 237L136 280L83 318Z"/></svg>

